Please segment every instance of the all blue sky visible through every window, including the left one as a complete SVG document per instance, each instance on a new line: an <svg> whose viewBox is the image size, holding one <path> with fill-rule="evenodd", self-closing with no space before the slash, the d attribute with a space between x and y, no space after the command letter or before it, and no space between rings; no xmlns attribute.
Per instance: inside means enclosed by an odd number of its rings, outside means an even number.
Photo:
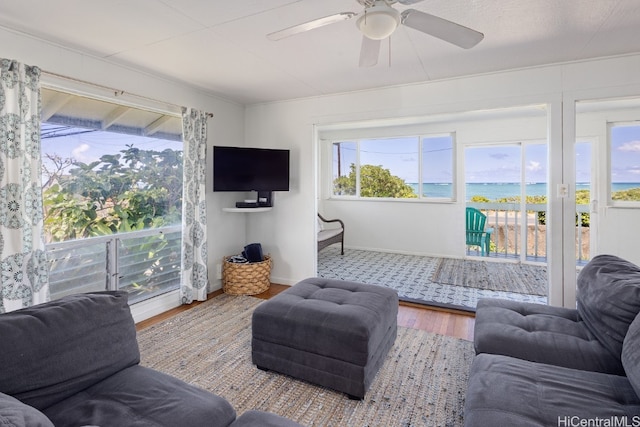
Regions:
<svg viewBox="0 0 640 427"><path fill-rule="evenodd" d="M424 182L451 182L452 151L447 136L429 137L423 158ZM182 142L109 132L90 132L42 140L43 152L56 153L83 163L98 160L105 153L115 154L134 144L140 149L162 151L182 149ZM343 145L343 173L355 162L355 143ZM406 182L418 182L417 138L368 140L363 144L361 162L383 165ZM525 181L546 182L547 159L543 144L525 145ZM351 149L350 149L351 148ZM465 152L466 182L520 181L520 147L517 145L468 148ZM589 144L576 146L576 181L590 181ZM615 126L611 139L611 174L613 182L640 182L640 125Z"/></svg>

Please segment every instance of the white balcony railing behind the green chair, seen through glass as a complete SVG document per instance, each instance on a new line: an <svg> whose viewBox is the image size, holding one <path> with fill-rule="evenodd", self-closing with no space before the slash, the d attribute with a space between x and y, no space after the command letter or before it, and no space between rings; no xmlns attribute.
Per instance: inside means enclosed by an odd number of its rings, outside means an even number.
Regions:
<svg viewBox="0 0 640 427"><path fill-rule="evenodd" d="M545 204L526 204L523 215L519 203L467 203L487 215L491 234L492 257L547 261L547 226ZM582 217L589 213L588 205L576 205L576 260L583 264L589 260L589 227ZM524 230L523 233L523 222ZM478 251L479 252L479 251ZM524 254L523 254L524 252ZM471 254L475 251L471 250Z"/></svg>

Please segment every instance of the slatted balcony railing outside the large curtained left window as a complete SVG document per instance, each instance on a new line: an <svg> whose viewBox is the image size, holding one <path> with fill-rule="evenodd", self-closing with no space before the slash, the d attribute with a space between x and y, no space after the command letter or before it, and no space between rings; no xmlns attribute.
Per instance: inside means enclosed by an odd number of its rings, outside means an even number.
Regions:
<svg viewBox="0 0 640 427"><path fill-rule="evenodd" d="M180 286L181 226L50 243L51 298L126 290L136 303Z"/></svg>

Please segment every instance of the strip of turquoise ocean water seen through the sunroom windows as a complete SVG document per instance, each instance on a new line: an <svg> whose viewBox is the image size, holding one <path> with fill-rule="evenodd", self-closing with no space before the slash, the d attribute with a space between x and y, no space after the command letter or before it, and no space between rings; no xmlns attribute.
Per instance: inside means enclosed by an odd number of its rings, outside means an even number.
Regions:
<svg viewBox="0 0 640 427"><path fill-rule="evenodd" d="M418 193L418 184L409 183L413 191ZM617 182L612 184L613 191L639 188L640 182ZM589 183L576 184L576 190L588 190ZM526 184L527 196L547 195L546 183ZM424 196L426 197L451 197L451 184L424 184ZM484 196L489 200L497 200L503 197L516 197L520 195L520 184L517 182L485 182L466 184L466 199L471 200L473 196Z"/></svg>

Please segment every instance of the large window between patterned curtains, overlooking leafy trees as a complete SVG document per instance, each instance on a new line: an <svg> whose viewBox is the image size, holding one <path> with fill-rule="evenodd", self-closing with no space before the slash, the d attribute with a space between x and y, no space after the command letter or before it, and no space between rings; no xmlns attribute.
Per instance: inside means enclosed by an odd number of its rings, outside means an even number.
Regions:
<svg viewBox="0 0 640 427"><path fill-rule="evenodd" d="M43 89L45 241L53 298L179 287L182 136L177 115Z"/></svg>

